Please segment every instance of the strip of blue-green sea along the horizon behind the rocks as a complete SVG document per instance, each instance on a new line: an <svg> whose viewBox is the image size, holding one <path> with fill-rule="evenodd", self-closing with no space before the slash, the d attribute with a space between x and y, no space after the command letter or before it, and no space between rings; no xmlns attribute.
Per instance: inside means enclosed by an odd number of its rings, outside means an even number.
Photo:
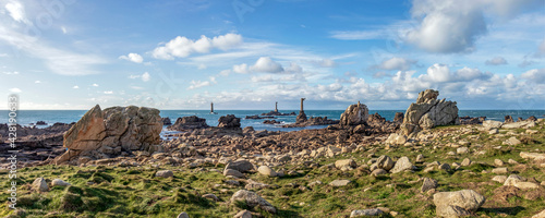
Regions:
<svg viewBox="0 0 545 218"><path fill-rule="evenodd" d="M344 110L305 110L307 117L327 117L329 119L340 119L340 114ZM9 110L0 110L0 123L8 123L9 121ZM56 122L71 123L77 122L86 110L19 110L16 114L17 124L31 126L37 121L45 121L47 125L38 125L37 128L47 128ZM171 119L172 123L175 122L178 118L187 116L197 116L199 118L206 119L206 122L210 126L218 125L218 119L221 116L234 114L241 118L242 128L253 126L254 130L268 130L268 131L299 131L303 129L322 129L326 128L324 125L315 125L307 128L281 128L282 124L290 124L295 122L295 116L279 116L275 120L282 122L280 125L263 124L264 120L251 120L245 119L246 116L262 114L264 112L269 112L269 110L217 110L217 114L210 114L209 110L161 110L161 117L168 117ZM282 113L295 112L296 110L279 110ZM405 112L404 110L371 110L370 113L378 113L386 120L393 120L396 112ZM505 116L511 116L514 120L519 117L526 119L530 116L534 116L537 119L545 118L545 110L459 110L458 114L460 117L486 117L487 120L504 121ZM166 131L166 129L164 129Z"/></svg>

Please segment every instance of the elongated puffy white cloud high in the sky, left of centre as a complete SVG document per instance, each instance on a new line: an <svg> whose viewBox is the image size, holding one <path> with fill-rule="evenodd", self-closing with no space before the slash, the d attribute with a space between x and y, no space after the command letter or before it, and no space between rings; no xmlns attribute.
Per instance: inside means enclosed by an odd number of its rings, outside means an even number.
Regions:
<svg viewBox="0 0 545 218"><path fill-rule="evenodd" d="M165 46L155 48L152 56L156 59L172 60L174 58L186 58L192 53L208 53L215 48L228 50L241 43L242 36L239 34L226 34L214 38L203 35L197 40L178 36Z"/></svg>

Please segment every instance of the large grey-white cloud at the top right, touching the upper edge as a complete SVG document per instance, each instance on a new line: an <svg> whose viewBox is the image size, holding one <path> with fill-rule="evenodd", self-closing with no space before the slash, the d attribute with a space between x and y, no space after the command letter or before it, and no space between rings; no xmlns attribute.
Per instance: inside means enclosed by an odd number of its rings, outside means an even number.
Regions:
<svg viewBox="0 0 545 218"><path fill-rule="evenodd" d="M405 40L432 52L452 53L474 50L474 43L487 33L487 17L510 19L538 0L414 0L412 16L419 25L409 29ZM486 17L486 19L485 19Z"/></svg>

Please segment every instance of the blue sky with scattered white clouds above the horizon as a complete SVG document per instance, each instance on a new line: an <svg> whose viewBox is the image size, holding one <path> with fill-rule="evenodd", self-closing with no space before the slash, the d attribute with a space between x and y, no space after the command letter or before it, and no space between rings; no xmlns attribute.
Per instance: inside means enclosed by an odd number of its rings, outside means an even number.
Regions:
<svg viewBox="0 0 545 218"><path fill-rule="evenodd" d="M545 1L0 0L0 76L21 109L545 109Z"/></svg>

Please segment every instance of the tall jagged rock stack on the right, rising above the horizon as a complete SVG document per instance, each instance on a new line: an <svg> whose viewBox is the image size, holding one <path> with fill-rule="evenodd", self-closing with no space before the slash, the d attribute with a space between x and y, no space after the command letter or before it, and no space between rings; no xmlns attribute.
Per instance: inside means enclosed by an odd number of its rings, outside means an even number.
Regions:
<svg viewBox="0 0 545 218"><path fill-rule="evenodd" d="M405 111L401 132L404 135L417 133L437 125L459 124L456 101L438 100L438 90L426 89L419 94L415 104Z"/></svg>

